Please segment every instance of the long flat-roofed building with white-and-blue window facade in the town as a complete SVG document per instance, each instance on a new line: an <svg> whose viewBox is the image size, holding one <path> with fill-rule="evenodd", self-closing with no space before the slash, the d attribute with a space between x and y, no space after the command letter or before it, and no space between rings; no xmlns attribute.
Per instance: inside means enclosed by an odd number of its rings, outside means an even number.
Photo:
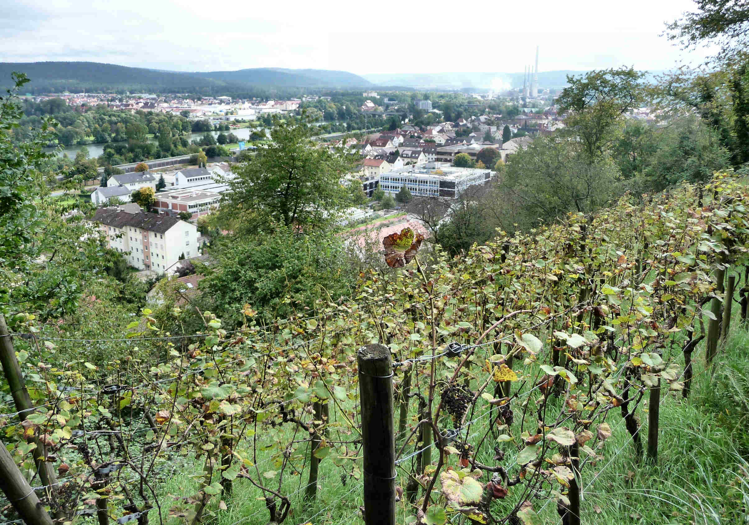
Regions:
<svg viewBox="0 0 749 525"><path fill-rule="evenodd" d="M487 183L490 169L456 168L449 163L420 163L380 175L385 192L398 193L405 184L414 196L458 198L469 186Z"/></svg>

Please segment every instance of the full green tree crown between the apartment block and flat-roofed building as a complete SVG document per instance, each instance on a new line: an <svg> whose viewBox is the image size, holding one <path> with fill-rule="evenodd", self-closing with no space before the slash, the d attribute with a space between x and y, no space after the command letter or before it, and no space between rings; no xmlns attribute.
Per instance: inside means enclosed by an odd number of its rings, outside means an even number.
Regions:
<svg viewBox="0 0 749 525"><path fill-rule="evenodd" d="M346 148L318 148L315 133L306 121L276 121L272 142L251 161L234 165L225 217L254 232L279 225L309 230L333 220L348 200L339 181L357 159Z"/></svg>

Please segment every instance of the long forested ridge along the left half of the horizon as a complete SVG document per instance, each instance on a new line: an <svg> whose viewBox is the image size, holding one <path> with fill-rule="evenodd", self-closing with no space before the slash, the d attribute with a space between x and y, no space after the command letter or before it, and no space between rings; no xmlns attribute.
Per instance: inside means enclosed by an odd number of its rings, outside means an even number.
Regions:
<svg viewBox="0 0 749 525"><path fill-rule="evenodd" d="M31 79L25 91L32 94L130 91L261 96L257 93L258 88L352 88L371 85L360 76L345 71L255 68L181 73L98 62L0 62L0 88L10 87L10 73L13 71L25 73Z"/></svg>

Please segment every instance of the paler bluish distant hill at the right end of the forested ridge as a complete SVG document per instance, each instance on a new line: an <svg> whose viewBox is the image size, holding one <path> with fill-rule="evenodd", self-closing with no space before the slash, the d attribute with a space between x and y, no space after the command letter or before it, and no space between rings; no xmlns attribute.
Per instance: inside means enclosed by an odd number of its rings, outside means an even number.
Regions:
<svg viewBox="0 0 749 525"><path fill-rule="evenodd" d="M251 85L306 86L321 88L366 88L372 85L369 80L348 71L315 69L280 69L276 67L255 67L237 71L207 71L185 73L204 79Z"/></svg>

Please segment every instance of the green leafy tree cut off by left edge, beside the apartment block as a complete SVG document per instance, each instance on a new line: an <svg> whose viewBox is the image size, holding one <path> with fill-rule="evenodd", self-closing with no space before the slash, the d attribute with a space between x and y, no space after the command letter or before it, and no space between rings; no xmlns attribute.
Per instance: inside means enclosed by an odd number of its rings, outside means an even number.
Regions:
<svg viewBox="0 0 749 525"><path fill-rule="evenodd" d="M70 204L50 195L44 181L53 157L43 147L55 138L55 121L41 118L23 142L13 140L22 118L17 93L28 78L11 78L14 87L0 98L0 315L12 330L19 312L43 323L77 312L81 276L96 273L101 249L85 222L64 218ZM74 191L81 183L76 176L62 186Z"/></svg>

